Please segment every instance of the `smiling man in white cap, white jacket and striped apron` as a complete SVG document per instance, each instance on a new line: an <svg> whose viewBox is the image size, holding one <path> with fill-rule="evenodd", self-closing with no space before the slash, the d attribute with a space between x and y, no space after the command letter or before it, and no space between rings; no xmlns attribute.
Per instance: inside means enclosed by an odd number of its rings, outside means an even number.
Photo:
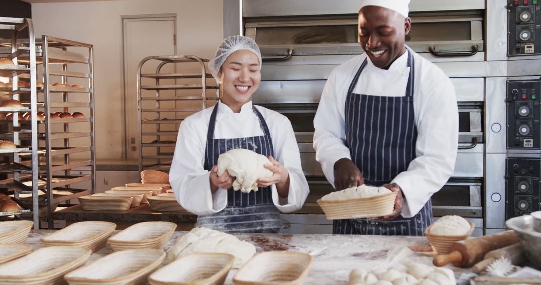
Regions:
<svg viewBox="0 0 541 285"><path fill-rule="evenodd" d="M410 0L360 2L365 54L327 80L314 118L316 160L336 191L366 184L398 195L391 215L334 221L333 233L421 236L457 157L456 94L443 71L405 45Z"/></svg>

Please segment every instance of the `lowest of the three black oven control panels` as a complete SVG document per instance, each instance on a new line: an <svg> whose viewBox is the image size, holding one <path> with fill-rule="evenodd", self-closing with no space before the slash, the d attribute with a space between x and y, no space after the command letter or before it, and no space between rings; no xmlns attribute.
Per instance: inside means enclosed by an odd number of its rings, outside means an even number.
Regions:
<svg viewBox="0 0 541 285"><path fill-rule="evenodd" d="M541 159L507 159L507 220L540 211Z"/></svg>

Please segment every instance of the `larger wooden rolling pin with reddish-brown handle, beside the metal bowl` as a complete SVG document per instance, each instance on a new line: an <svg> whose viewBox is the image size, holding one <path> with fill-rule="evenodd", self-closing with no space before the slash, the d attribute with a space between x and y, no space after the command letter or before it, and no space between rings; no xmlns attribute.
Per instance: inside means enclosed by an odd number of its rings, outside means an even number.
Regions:
<svg viewBox="0 0 541 285"><path fill-rule="evenodd" d="M453 243L449 249L450 254L438 255L432 262L434 266L442 267L453 263L456 267L472 267L483 260L485 254L492 250L518 243L513 230L507 232L481 236Z"/></svg>

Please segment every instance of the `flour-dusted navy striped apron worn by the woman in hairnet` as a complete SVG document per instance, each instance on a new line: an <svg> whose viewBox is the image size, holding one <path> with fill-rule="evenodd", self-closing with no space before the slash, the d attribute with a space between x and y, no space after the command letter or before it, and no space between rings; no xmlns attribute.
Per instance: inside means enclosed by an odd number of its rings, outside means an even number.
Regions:
<svg viewBox="0 0 541 285"><path fill-rule="evenodd" d="M259 118L259 123L264 135L251 138L237 139L214 139L216 127L216 114L218 104L214 107L207 133L207 146L205 150L204 169L210 171L217 165L220 154L230 150L243 148L269 157L274 154L271 140L271 132L265 118L258 109L253 106L254 113ZM223 190L218 190L223 191ZM258 192L242 193L227 191L227 207L219 213L197 218L197 227L205 227L220 232L235 233L282 233L282 223L278 209L273 204L271 187L259 188Z"/></svg>

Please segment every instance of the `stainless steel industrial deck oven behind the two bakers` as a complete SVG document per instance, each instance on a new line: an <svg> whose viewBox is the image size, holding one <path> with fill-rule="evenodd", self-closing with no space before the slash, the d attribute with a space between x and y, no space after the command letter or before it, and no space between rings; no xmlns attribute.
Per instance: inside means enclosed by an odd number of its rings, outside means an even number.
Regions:
<svg viewBox="0 0 541 285"><path fill-rule="evenodd" d="M490 87L504 91L510 73L536 72L535 60L528 60L524 68L512 64L518 63L519 56L509 60L506 5L500 0L488 4L482 0L412 0L410 4L412 30L406 44L446 72L458 99L457 164L452 178L433 196L434 216L463 216L476 224L477 235L484 233L489 218L487 181L500 179L485 175L486 106L491 100L487 83L501 79L503 84ZM241 34L253 38L263 55L262 83L253 101L291 120L310 186L305 207L293 215L282 215L286 232L331 232L332 223L315 204L332 187L315 161L312 120L329 73L364 52L357 43L358 10L357 1L332 5L325 0L224 1L225 37ZM532 58L538 59L535 55L528 59Z"/></svg>

